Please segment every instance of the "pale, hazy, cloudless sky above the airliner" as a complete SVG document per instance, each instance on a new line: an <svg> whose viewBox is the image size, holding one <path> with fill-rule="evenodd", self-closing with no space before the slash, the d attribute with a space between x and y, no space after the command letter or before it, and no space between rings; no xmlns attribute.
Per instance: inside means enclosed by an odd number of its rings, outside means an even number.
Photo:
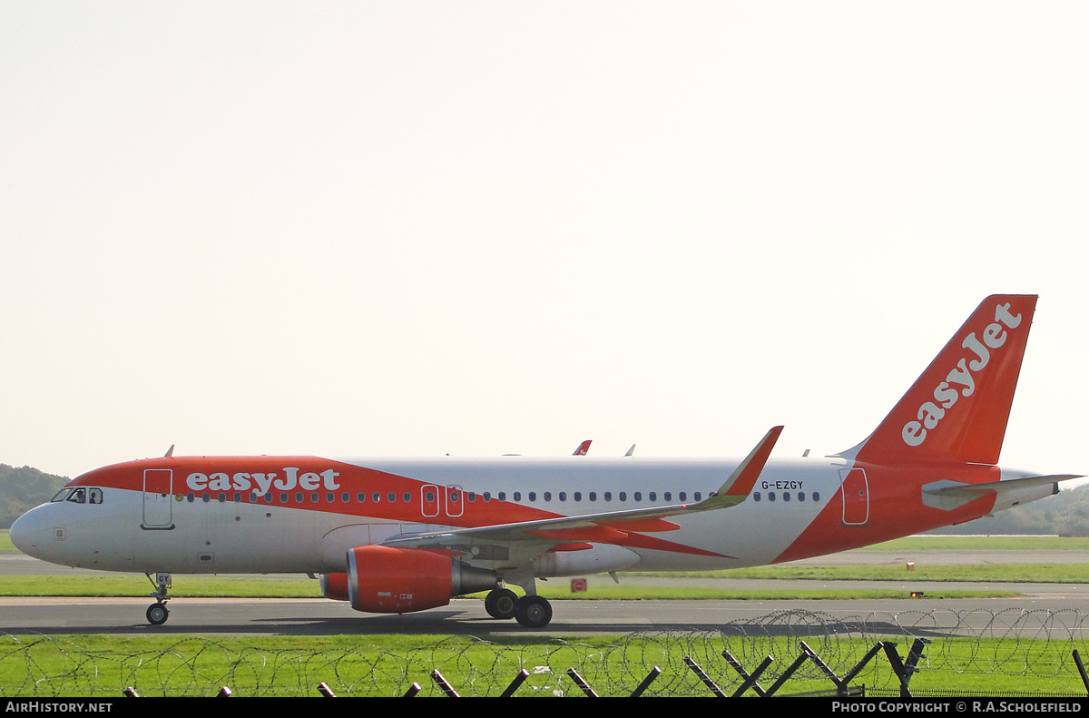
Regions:
<svg viewBox="0 0 1089 718"><path fill-rule="evenodd" d="M0 462L774 457L1040 295L1089 473L1085 2L0 3Z"/></svg>

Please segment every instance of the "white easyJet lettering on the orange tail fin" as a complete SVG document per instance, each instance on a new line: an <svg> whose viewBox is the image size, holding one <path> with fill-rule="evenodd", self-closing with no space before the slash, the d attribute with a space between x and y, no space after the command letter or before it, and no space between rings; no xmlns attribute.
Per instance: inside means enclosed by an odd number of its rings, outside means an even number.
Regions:
<svg viewBox="0 0 1089 718"><path fill-rule="evenodd" d="M957 362L944 381L934 387L934 400L926 401L919 406L916 414L918 421L904 425L904 443L909 447L920 446L927 440L927 431L938 427L960 397L970 397L976 391L975 375L990 363L991 351L1002 349L1006 343L1006 329L1016 329L1020 323L1021 315L1011 314L1008 303L1000 304L994 307L994 323L983 329L982 339L975 331L964 338L960 348L968 350L969 354Z"/></svg>

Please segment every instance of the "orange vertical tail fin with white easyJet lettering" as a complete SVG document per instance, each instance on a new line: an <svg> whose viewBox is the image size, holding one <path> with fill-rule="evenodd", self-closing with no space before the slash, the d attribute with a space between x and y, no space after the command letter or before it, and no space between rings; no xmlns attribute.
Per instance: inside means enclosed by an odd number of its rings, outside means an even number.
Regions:
<svg viewBox="0 0 1089 718"><path fill-rule="evenodd" d="M856 462L996 464L1036 295L983 300L866 441Z"/></svg>

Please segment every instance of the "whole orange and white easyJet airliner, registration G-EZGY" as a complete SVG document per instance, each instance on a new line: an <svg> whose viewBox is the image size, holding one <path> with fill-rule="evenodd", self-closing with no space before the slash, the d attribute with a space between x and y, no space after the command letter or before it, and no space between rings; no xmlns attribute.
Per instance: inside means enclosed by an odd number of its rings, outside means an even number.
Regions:
<svg viewBox="0 0 1089 718"><path fill-rule="evenodd" d="M540 628L552 608L537 579L779 563L1054 494L1074 476L996 465L1035 308L984 300L869 438L825 459L769 460L782 427L742 461L171 451L79 476L11 538L53 563L154 576L155 624L171 573L310 573L359 611L487 591L492 617Z"/></svg>

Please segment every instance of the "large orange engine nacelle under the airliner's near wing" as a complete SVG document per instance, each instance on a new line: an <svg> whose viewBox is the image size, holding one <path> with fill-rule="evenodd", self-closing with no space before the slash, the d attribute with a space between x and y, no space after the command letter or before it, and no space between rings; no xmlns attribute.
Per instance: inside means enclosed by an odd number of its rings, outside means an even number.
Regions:
<svg viewBox="0 0 1089 718"><path fill-rule="evenodd" d="M448 553L389 546L350 550L346 579L352 608L371 613L445 606L453 596L488 591L499 583L493 572L465 565Z"/></svg>

